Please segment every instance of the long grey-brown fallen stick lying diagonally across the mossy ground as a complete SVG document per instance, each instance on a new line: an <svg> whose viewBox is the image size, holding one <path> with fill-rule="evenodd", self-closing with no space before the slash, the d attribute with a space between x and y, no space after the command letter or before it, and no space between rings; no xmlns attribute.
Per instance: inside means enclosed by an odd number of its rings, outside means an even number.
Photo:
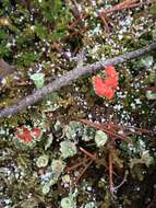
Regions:
<svg viewBox="0 0 156 208"><path fill-rule="evenodd" d="M81 76L84 76L86 73L92 73L93 71L97 71L103 69L104 67L108 66L108 65L117 65L117 63L121 63L121 62L125 62L130 59L134 59L137 58L146 53L149 53L151 50L156 49L156 42L152 43L151 45L131 51L131 53L125 53L121 56L117 56L115 58L110 58L107 60L99 60L96 61L92 65L87 65L87 66L77 66L75 67L73 70L67 72L64 76L56 79L55 81L50 82L49 84L45 85L44 88L36 90L34 93L27 95L26 97L24 97L23 100L21 100L19 103L7 107L4 109L0 111L0 118L5 117L5 116L11 116L14 115L16 113L19 113L20 111L24 109L25 107L37 103L38 101L40 101L43 97L45 97L47 94L59 90L60 88L69 84L70 82L79 79Z"/></svg>

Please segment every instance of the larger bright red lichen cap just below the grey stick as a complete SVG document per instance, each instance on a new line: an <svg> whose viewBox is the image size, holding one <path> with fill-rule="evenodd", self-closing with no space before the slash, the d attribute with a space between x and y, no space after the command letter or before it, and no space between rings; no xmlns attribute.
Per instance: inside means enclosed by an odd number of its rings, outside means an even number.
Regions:
<svg viewBox="0 0 156 208"><path fill-rule="evenodd" d="M105 68L106 79L100 76L93 77L94 91L98 96L111 100L118 88L118 74L113 66Z"/></svg>

